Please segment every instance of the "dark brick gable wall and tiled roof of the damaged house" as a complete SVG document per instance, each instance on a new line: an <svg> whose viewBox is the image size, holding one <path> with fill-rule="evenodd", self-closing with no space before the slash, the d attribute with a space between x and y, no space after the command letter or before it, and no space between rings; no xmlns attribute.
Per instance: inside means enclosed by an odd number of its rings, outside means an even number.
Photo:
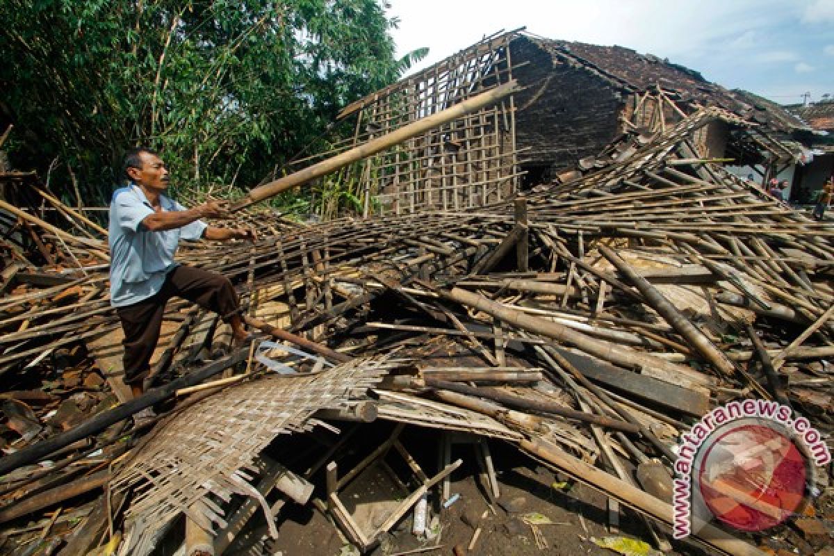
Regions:
<svg viewBox="0 0 834 556"><path fill-rule="evenodd" d="M590 168L621 134L654 133L697 106L736 111L739 104L700 73L618 46L568 43L522 35L511 45L515 76L527 88L516 103L519 145L529 148L530 183L568 168ZM722 158L728 129L710 123L699 153Z"/></svg>

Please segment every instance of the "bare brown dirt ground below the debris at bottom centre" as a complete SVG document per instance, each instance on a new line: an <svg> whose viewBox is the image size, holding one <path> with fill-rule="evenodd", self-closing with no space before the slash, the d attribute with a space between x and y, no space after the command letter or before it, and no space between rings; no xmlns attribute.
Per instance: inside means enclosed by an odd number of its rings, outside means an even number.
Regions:
<svg viewBox="0 0 834 556"><path fill-rule="evenodd" d="M420 465L434 473L437 431L417 430L404 434L403 443ZM416 453L420 447L421 453ZM498 556L513 554L534 556L538 554L611 554L610 550L598 547L591 538L625 536L651 543L642 519L627 508L620 508L619 531L607 528L608 510L605 497L581 483L566 480L549 468L526 457L510 443L490 440L490 449L495 460L495 470L500 482L500 498L490 503L485 485L480 484L479 469L475 464L474 448L460 444L453 448L452 457L464 459L464 464L452 473L451 494L460 498L449 508L437 508L440 504L430 498L430 518L438 516L439 527L435 538L415 536L411 532L413 512L405 514L389 534L384 535L378 546L369 554L388 556L408 553L418 548L437 548L415 552L419 554L453 554L454 548L469 546L475 529L468 523L480 525L481 533L475 547L465 554ZM565 484L566 483L566 484ZM320 482L318 483L320 484ZM374 484L355 485L357 489L374 490ZM436 498L439 488L432 491ZM315 495L319 495L317 491ZM300 509L288 508L284 519L279 521L279 539L274 542L274 554L282 556L347 556L358 554L345 546L334 525L316 509L308 505ZM511 510L511 511L508 511ZM486 513L486 517L481 516ZM538 513L552 524L538 525L539 542L533 528L525 523L525 514ZM653 547L656 548L656 547ZM671 553L702 553L696 547L677 545Z"/></svg>

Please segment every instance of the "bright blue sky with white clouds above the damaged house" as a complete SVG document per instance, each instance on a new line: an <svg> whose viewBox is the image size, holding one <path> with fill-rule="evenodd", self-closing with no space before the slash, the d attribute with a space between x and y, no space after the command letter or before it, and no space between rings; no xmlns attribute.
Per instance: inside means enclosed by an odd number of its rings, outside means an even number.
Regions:
<svg viewBox="0 0 834 556"><path fill-rule="evenodd" d="M389 0L400 56L420 68L501 29L618 44L778 103L834 97L834 0Z"/></svg>

